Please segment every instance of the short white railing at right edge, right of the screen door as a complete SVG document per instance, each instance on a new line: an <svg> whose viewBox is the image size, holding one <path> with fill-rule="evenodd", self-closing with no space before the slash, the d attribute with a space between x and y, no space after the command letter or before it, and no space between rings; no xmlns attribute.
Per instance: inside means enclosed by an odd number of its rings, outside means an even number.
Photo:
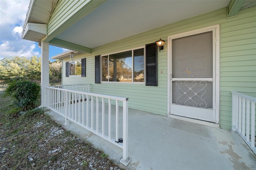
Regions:
<svg viewBox="0 0 256 170"><path fill-rule="evenodd" d="M232 93L232 130L237 131L252 151L255 148L255 103L256 98L242 93Z"/></svg>

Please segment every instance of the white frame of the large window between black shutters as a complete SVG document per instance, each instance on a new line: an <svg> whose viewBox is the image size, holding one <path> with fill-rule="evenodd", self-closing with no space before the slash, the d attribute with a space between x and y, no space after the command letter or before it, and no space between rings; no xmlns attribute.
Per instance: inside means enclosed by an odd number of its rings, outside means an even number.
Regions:
<svg viewBox="0 0 256 170"><path fill-rule="evenodd" d="M112 54L116 54L116 53L122 53L122 52L126 52L126 51L132 51L132 56L133 56L133 51L136 50L136 49L141 49L143 48L144 49L144 82L135 82L133 79L132 79L132 82L120 82L120 81L102 81L102 57L104 56L108 56L108 59L109 59L109 55L112 55ZM135 47L135 48L130 48L130 49L125 49L125 50L121 50L121 51L115 51L115 52L112 52L112 53L107 53L107 54L103 54L103 55L100 55L100 83L118 83L118 84L141 84L141 85L145 85L146 82L145 82L145 71L146 71L146 46L143 45L143 46L140 46L140 47ZM132 57L132 77L133 77L133 74L134 74L134 61L133 61L134 57Z"/></svg>

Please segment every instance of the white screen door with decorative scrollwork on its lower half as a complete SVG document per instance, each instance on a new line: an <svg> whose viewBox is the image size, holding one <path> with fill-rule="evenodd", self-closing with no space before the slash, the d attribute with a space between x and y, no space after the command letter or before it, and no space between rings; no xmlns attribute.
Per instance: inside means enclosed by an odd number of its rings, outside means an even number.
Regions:
<svg viewBox="0 0 256 170"><path fill-rule="evenodd" d="M168 38L170 114L218 123L216 28Z"/></svg>

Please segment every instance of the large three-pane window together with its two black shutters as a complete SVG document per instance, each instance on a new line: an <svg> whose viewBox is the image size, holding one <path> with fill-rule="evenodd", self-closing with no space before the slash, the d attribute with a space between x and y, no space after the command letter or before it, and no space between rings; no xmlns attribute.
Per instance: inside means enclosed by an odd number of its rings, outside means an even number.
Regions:
<svg viewBox="0 0 256 170"><path fill-rule="evenodd" d="M158 86L157 49L154 42L146 44L145 49L134 49L103 57L96 55L95 83L100 81L145 82L146 86Z"/></svg>

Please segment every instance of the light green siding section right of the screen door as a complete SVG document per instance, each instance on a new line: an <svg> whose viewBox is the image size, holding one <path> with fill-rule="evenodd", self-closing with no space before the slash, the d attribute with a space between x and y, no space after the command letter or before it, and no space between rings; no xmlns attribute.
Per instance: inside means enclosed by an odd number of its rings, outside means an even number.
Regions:
<svg viewBox="0 0 256 170"><path fill-rule="evenodd" d="M220 127L231 128L232 95L256 97L255 7L220 24Z"/></svg>

